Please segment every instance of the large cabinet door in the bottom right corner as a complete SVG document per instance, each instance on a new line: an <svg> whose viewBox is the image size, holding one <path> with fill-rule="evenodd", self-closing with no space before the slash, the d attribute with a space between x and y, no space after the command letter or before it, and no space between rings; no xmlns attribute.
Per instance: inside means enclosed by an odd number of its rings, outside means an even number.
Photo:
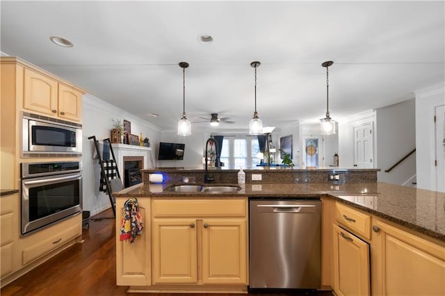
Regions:
<svg viewBox="0 0 445 296"><path fill-rule="evenodd" d="M445 295L445 247L385 222L378 232L375 267L376 295ZM379 230L380 229L380 230Z"/></svg>

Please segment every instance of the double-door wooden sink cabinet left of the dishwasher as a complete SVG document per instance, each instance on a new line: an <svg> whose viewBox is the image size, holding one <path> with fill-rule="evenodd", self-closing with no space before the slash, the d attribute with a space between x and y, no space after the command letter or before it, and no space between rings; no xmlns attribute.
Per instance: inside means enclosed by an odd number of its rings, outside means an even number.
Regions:
<svg viewBox="0 0 445 296"><path fill-rule="evenodd" d="M153 284L246 285L246 203L239 198L154 199Z"/></svg>

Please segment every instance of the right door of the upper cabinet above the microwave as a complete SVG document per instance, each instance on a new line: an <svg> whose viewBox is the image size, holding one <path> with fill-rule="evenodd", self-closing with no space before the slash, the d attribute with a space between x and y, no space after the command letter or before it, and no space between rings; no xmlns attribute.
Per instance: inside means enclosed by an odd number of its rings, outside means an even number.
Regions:
<svg viewBox="0 0 445 296"><path fill-rule="evenodd" d="M81 121L82 93L74 88L59 83L58 85L58 116L66 120Z"/></svg>

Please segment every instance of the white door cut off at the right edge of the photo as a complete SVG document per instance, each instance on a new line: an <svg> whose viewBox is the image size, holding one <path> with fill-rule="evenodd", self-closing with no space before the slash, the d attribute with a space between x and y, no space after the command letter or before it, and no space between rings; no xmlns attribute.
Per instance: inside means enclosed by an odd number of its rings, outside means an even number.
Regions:
<svg viewBox="0 0 445 296"><path fill-rule="evenodd" d="M435 107L435 160L437 191L445 192L445 106Z"/></svg>

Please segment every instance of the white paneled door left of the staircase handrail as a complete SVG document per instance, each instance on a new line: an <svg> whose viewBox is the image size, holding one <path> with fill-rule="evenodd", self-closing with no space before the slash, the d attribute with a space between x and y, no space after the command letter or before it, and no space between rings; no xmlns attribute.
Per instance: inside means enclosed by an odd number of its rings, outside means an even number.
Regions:
<svg viewBox="0 0 445 296"><path fill-rule="evenodd" d="M354 166L373 168L373 124L354 126Z"/></svg>

